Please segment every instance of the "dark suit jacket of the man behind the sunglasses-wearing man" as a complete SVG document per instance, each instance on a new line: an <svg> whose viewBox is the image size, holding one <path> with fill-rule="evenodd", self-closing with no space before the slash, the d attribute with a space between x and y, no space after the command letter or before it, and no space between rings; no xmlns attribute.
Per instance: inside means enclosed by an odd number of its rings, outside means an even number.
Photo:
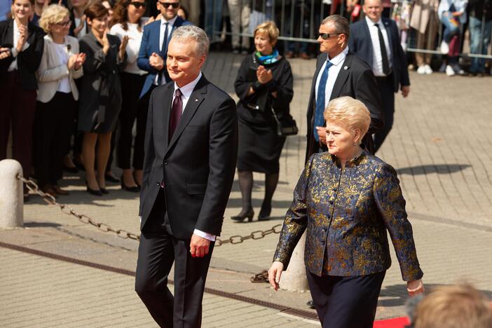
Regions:
<svg viewBox="0 0 492 328"><path fill-rule="evenodd" d="M384 28L388 33L388 42L391 49L391 65L393 71L393 90L398 92L400 86L410 86L409 70L406 64L406 54L399 40L399 32L396 22L388 18L381 18ZM359 56L369 66L372 66L373 45L371 34L366 20L360 20L350 25L350 39L348 48Z"/></svg>

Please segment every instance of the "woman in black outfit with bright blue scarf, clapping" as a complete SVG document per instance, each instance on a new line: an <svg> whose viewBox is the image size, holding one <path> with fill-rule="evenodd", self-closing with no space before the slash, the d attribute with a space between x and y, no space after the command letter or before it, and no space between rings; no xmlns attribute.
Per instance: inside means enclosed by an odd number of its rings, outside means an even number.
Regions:
<svg viewBox="0 0 492 328"><path fill-rule="evenodd" d="M278 34L274 22L261 23L254 29L256 50L242 61L234 83L239 97L238 176L242 195L242 210L231 217L234 221L253 219L253 171L265 173L265 198L258 219L270 217L272 196L278 183L279 158L285 142L285 137L277 135L272 109L279 118L288 115L294 95L290 64L275 49Z"/></svg>

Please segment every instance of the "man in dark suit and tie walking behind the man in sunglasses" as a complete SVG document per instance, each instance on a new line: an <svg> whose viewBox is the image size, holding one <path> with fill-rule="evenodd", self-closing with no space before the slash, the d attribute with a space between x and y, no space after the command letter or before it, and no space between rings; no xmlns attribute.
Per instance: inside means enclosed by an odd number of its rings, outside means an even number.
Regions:
<svg viewBox="0 0 492 328"><path fill-rule="evenodd" d="M390 133L395 114L395 93L409 95L410 78L406 55L399 40L396 22L381 18L381 0L366 0L366 17L350 26L348 48L371 67L383 102L384 128L374 135L374 152Z"/></svg>

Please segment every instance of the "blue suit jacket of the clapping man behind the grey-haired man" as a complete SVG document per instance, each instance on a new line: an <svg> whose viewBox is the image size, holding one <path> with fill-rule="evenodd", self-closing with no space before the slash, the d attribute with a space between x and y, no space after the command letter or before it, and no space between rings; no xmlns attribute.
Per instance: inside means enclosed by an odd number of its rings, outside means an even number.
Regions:
<svg viewBox="0 0 492 328"><path fill-rule="evenodd" d="M156 22L151 22L144 27L144 34L142 35L142 43L140 43L140 50L138 53L137 66L139 69L143 69L144 71L148 71L144 82L144 86L142 88L142 92L140 93L140 97L144 97L144 95L151 88L153 81L156 79L156 74L160 74L161 71L167 72L165 59L168 56L168 47L166 46L163 50L159 50L159 35L160 35L160 20L156 20ZM193 25L191 22L180 18L179 16L175 20L175 25L172 25L172 31L168 38L168 43L172 38L172 32L175 31L180 26L184 25ZM160 57L163 57L164 67L162 70L158 71L157 69L151 67L149 64L149 57L152 53L160 54ZM166 78L169 81L169 78L166 74Z"/></svg>

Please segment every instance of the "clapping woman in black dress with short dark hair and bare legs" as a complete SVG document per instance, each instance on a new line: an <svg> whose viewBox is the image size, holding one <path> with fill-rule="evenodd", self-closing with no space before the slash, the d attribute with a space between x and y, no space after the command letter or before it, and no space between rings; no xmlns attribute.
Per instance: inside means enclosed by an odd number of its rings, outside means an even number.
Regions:
<svg viewBox="0 0 492 328"><path fill-rule="evenodd" d="M101 196L107 193L104 168L111 149L111 133L116 128L121 110L120 71L126 64L128 36L120 41L118 36L107 34L108 11L102 4L90 4L85 15L90 32L80 40L81 53L87 57L83 63L84 75L78 100L78 130L83 132L82 158L87 191Z"/></svg>

